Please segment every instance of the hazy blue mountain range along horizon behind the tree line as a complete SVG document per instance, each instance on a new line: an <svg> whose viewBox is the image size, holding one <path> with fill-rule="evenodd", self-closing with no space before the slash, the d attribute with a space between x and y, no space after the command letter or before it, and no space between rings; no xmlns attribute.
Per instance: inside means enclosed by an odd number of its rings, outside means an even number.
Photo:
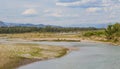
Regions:
<svg viewBox="0 0 120 69"><path fill-rule="evenodd" d="M95 28L106 28L109 24L72 24L65 27L95 27ZM44 25L44 24L24 24L24 23L6 23L3 21L0 21L0 27L14 27L14 26L21 26L21 27L46 27L46 26L52 26L52 27L61 27L61 26L54 26L54 25Z"/></svg>

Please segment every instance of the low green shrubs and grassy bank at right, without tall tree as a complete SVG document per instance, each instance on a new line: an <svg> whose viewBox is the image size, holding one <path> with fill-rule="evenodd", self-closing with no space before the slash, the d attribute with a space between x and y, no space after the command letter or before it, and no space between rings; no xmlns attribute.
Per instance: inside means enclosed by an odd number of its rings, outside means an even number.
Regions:
<svg viewBox="0 0 120 69"><path fill-rule="evenodd" d="M119 36L115 36L114 39L107 39L104 30L84 32L84 34L82 35L82 38L89 39L89 40L95 40L95 41L101 41L101 42L109 42L114 45L120 45Z"/></svg>

